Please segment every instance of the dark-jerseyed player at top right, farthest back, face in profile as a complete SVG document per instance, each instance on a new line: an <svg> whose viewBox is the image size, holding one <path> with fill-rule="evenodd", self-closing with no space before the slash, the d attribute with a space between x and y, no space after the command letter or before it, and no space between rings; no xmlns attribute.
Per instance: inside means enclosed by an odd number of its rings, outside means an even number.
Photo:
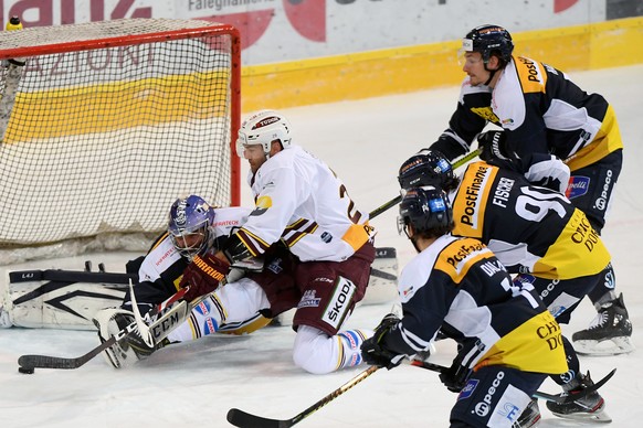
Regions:
<svg viewBox="0 0 643 428"><path fill-rule="evenodd" d="M622 167L623 142L612 106L588 94L569 76L541 62L513 56L510 34L481 25L463 39L463 71L457 108L446 129L430 146L449 160L467 152L488 122L503 131L478 137L483 160L555 154L571 171L567 196L601 232ZM631 352L632 324L622 295L615 292L610 265L588 295L599 314L590 328L572 335L588 354ZM614 344L610 346L611 342Z"/></svg>

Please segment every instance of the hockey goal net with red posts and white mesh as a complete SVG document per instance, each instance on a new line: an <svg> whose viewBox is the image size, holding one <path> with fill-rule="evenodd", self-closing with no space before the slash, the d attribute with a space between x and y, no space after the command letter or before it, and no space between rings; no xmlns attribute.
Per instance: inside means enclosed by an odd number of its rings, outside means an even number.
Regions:
<svg viewBox="0 0 643 428"><path fill-rule="evenodd" d="M197 20L1 32L0 265L146 250L181 194L239 204L240 50Z"/></svg>

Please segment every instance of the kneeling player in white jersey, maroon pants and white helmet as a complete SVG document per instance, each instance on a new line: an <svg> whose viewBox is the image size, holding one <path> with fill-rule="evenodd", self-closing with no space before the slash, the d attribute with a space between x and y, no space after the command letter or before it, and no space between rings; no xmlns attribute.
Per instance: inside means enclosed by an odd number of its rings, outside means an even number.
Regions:
<svg viewBox="0 0 643 428"><path fill-rule="evenodd" d="M293 360L307 372L323 374L360 364L359 347L372 334L340 329L366 292L375 229L341 181L294 145L291 132L286 118L274 110L243 122L238 152L250 163L255 208L210 267L224 275L230 265L284 244L295 256L289 277L299 293Z"/></svg>

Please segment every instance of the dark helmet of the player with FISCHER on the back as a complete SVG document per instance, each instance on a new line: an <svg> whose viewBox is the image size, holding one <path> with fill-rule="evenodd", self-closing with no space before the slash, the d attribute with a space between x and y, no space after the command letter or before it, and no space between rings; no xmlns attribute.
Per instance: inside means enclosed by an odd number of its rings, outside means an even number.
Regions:
<svg viewBox="0 0 643 428"><path fill-rule="evenodd" d="M442 153L432 150L422 150L407 159L400 167L398 181L402 189L433 185L452 191L457 186L451 163Z"/></svg>

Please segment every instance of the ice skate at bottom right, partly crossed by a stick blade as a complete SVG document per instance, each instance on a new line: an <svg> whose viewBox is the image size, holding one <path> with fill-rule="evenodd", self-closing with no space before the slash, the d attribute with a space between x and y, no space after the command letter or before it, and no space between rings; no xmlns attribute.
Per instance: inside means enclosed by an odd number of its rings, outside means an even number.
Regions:
<svg viewBox="0 0 643 428"><path fill-rule="evenodd" d="M593 382L589 372L587 375L579 374L578 377L569 384L562 386L565 389L562 395L573 396L573 394L578 394L591 385L593 385ZM547 408L555 416L560 418L588 420L601 424L609 424L612 421L612 418L604 411L605 400L597 390L571 403L547 402Z"/></svg>

